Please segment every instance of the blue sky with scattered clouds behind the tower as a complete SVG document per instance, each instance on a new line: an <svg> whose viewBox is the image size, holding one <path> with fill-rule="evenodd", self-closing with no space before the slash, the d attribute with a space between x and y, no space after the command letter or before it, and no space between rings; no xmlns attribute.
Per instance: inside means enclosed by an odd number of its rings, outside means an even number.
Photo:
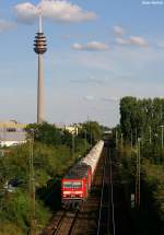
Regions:
<svg viewBox="0 0 164 235"><path fill-rule="evenodd" d="M164 1L0 1L0 120L36 121L38 13L45 119L113 127L124 96L164 96Z"/></svg>

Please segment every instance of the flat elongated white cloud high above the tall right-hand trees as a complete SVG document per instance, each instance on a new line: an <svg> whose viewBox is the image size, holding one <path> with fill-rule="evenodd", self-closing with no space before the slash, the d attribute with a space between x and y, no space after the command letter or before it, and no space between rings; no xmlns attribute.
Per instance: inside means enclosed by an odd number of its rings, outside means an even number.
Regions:
<svg viewBox="0 0 164 235"><path fill-rule="evenodd" d="M116 43L118 45L132 45L132 46L140 46L140 47L148 47L149 43L143 38L139 36L129 36L129 38L116 38Z"/></svg>

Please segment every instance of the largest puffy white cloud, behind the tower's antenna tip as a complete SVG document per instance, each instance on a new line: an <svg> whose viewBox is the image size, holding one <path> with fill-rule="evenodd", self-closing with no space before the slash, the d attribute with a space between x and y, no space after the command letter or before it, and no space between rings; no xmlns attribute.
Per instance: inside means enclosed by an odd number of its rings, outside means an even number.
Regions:
<svg viewBox="0 0 164 235"><path fill-rule="evenodd" d="M38 13L55 22L82 22L96 19L94 12L84 11L77 4L66 0L45 0L37 5L31 2L24 2L15 5L15 13L19 21L23 23L33 23Z"/></svg>

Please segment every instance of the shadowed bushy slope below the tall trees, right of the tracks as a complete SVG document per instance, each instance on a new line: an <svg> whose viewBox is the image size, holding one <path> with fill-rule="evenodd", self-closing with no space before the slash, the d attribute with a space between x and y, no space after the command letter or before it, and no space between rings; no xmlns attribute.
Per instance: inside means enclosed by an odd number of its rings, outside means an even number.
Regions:
<svg viewBox="0 0 164 235"><path fill-rule="evenodd" d="M120 180L133 224L134 235L164 234L164 167L142 157L140 165L140 203L130 201L136 195L137 153L129 146L118 150ZM134 199L132 197L132 199Z"/></svg>

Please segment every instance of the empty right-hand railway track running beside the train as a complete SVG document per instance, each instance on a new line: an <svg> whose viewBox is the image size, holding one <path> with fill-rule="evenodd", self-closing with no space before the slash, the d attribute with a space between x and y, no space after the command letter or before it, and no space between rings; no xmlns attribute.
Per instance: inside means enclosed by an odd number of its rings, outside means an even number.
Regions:
<svg viewBox="0 0 164 235"><path fill-rule="evenodd" d="M119 157L115 149L105 148L105 165L96 235L131 235L133 231L125 186L119 179Z"/></svg>

